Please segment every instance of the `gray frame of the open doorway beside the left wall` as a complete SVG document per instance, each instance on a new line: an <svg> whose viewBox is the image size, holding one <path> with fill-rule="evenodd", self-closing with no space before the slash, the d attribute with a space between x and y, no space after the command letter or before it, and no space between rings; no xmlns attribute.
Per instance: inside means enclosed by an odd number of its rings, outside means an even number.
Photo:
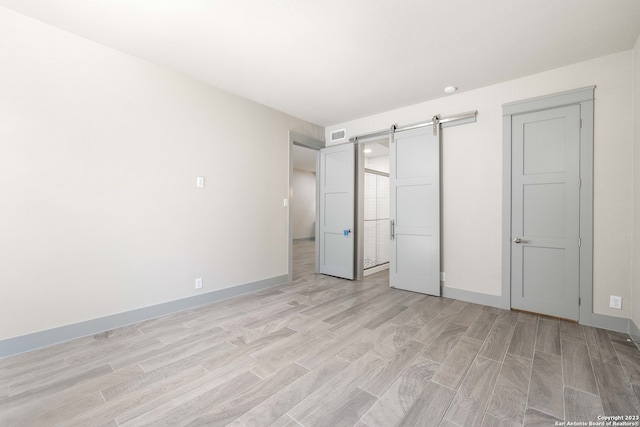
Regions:
<svg viewBox="0 0 640 427"><path fill-rule="evenodd" d="M293 281L293 221L291 221L291 200L293 199L294 195L293 195L293 146L294 145L298 145L300 147L305 147L305 148L310 148L312 150L316 150L317 152L320 151L320 149L325 148L325 143L324 141L321 141L319 139L315 139L312 138L310 136L306 136L303 135L301 133L297 133L294 131L289 131L289 176L288 176L288 182L289 182L289 194L287 195L288 201L289 201L289 207L287 208L287 241L288 241L288 246L289 249L287 251L288 253L288 282L292 282ZM318 194L320 191L320 184L318 182L318 171L320 169L320 156L318 156L318 153L316 153L316 231L315 231L315 272L318 273L318 266L320 265L320 251L319 251L319 244L320 241L318 239L318 233L319 233L319 224L318 224L318 218L320 217L320 206L317 203L317 198L318 198Z"/></svg>

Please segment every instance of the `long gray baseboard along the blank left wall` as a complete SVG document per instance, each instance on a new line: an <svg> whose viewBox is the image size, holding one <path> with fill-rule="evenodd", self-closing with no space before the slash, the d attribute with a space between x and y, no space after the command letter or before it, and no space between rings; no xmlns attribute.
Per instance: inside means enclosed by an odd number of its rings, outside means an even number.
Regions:
<svg viewBox="0 0 640 427"><path fill-rule="evenodd" d="M246 283L244 285L233 286L231 288L207 292L202 295L195 295L188 298L152 305L150 307L138 308L124 313L112 314L98 319L34 332L32 334L22 335L19 337L8 338L0 341L0 357L24 353L37 348L120 328L143 320L149 320L201 305L211 304L213 302L255 292L271 286L281 285L283 283L287 283L287 279L288 276L285 274L282 276L272 277L270 279Z"/></svg>

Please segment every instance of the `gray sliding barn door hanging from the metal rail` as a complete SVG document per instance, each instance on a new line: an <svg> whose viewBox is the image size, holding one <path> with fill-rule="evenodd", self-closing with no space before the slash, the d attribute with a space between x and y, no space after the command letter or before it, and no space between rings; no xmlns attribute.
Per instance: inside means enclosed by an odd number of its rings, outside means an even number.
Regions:
<svg viewBox="0 0 640 427"><path fill-rule="evenodd" d="M440 295L440 132L398 132L389 147L394 288Z"/></svg>

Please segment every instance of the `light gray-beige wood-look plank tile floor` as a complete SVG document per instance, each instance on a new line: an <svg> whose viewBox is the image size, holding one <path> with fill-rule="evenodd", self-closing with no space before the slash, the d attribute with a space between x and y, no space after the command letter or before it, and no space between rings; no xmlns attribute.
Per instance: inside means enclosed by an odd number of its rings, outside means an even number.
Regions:
<svg viewBox="0 0 640 427"><path fill-rule="evenodd" d="M628 336L313 274L0 359L1 426L521 426L640 413Z"/></svg>

